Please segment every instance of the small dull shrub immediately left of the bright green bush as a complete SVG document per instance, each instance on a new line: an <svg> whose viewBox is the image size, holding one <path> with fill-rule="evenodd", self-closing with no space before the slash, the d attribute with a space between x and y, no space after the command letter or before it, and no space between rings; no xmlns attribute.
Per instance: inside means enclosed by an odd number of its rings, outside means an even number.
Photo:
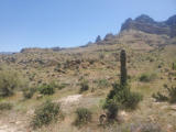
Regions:
<svg viewBox="0 0 176 132"><path fill-rule="evenodd" d="M24 88L22 91L24 99L31 99L36 90L35 88Z"/></svg>

